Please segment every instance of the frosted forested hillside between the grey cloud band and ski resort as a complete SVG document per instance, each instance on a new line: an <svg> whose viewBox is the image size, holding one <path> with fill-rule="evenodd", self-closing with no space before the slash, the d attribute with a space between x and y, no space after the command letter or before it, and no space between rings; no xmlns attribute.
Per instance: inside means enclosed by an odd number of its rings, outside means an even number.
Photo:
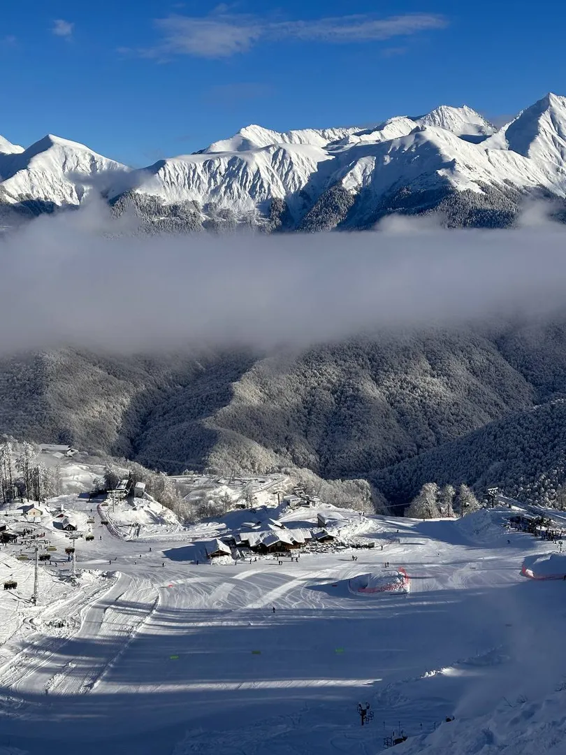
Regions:
<svg viewBox="0 0 566 755"><path fill-rule="evenodd" d="M561 323L382 333L270 355L63 349L2 360L0 432L177 473L371 479L405 502L429 480L514 495L549 474L560 487L562 396Z"/></svg>

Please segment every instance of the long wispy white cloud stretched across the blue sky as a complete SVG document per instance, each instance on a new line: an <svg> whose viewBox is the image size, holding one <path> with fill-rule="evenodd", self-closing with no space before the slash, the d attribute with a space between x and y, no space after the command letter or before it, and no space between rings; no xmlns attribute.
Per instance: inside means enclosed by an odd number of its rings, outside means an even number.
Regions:
<svg viewBox="0 0 566 755"><path fill-rule="evenodd" d="M163 59L170 55L230 57L248 51L263 41L295 39L303 42L345 44L373 42L443 29L448 21L439 14L415 13L388 18L368 14L319 18L315 20L267 20L226 12L220 6L207 17L172 15L155 21L162 40L140 51L145 57Z"/></svg>

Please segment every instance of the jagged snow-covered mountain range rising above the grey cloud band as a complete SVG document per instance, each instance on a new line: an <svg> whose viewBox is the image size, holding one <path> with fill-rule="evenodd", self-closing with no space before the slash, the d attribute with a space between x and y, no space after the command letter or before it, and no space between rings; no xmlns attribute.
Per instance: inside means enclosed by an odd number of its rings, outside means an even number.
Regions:
<svg viewBox="0 0 566 755"><path fill-rule="evenodd" d="M250 125L141 170L51 134L27 149L0 137L0 177L8 214L77 206L98 191L116 212L132 205L161 227L363 228L396 211L506 225L525 196L564 201L566 97L547 94L500 129L444 105L372 128Z"/></svg>

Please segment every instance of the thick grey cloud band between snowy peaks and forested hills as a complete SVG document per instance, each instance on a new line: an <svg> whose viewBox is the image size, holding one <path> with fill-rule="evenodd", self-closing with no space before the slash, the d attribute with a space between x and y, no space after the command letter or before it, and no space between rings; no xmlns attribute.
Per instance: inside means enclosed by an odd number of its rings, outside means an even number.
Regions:
<svg viewBox="0 0 566 755"><path fill-rule="evenodd" d="M372 233L143 236L91 205L0 242L0 348L270 348L552 316L565 242L533 211L506 231L392 219Z"/></svg>

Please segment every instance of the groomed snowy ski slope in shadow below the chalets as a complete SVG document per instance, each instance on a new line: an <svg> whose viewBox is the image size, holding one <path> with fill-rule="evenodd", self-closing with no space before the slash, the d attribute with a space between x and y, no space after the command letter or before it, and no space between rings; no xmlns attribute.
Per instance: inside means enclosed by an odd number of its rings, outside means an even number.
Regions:
<svg viewBox="0 0 566 755"><path fill-rule="evenodd" d="M399 755L467 755L496 750L448 747L448 727L472 737L497 711L511 726L511 711L528 732L525 705L555 710L543 700L563 681L566 585L521 576L526 557L555 546L507 532L503 507L460 521L372 517L383 551L282 565L169 559L167 535L115 538L93 516L95 540L77 546L85 586L51 605L63 583L42 572L39 605L22 593L20 628L2 645L2 755L69 742L82 755L375 755L399 725L409 737ZM410 592L352 594L349 581L385 562L406 570ZM75 621L54 636L48 614ZM374 711L363 728L360 701ZM513 736L509 753L526 753Z"/></svg>

